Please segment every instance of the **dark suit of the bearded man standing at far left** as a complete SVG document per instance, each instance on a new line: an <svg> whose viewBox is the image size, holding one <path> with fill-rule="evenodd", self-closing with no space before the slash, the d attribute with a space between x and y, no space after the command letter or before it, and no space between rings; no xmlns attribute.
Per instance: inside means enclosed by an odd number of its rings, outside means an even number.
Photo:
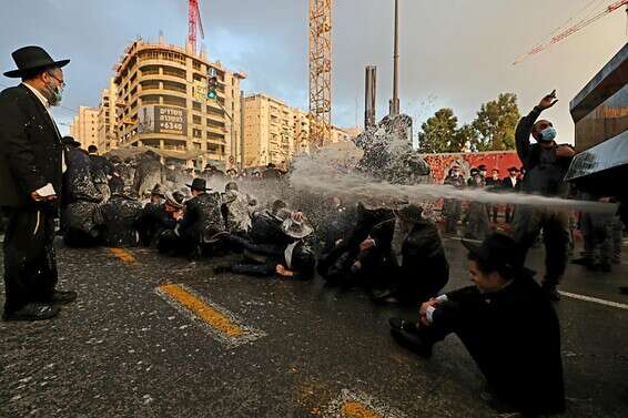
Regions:
<svg viewBox="0 0 628 418"><path fill-rule="evenodd" d="M9 208L4 237L4 310L47 300L57 285L52 239L58 201L30 194L51 183L61 197L61 135L26 85L0 92L0 206Z"/></svg>

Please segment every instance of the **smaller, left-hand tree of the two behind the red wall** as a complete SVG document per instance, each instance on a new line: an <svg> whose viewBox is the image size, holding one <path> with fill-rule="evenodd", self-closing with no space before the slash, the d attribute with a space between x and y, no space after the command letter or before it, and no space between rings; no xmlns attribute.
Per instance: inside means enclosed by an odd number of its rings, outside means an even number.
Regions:
<svg viewBox="0 0 628 418"><path fill-rule="evenodd" d="M454 111L444 108L434 116L425 121L418 133L418 151L422 153L459 152L462 146L458 144L458 118Z"/></svg>

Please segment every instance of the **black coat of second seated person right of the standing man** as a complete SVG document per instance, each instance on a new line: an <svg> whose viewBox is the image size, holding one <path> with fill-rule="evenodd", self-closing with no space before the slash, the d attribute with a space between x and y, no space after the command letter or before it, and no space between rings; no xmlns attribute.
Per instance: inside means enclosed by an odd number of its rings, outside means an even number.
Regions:
<svg viewBox="0 0 628 418"><path fill-rule="evenodd" d="M138 222L142 205L134 198L114 194L102 208L102 238L110 247L130 247L139 243Z"/></svg>

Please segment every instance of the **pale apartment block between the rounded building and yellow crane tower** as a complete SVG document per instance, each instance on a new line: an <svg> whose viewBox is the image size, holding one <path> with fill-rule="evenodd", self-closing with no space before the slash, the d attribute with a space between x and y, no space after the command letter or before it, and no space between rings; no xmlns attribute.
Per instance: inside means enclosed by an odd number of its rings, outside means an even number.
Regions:
<svg viewBox="0 0 628 418"><path fill-rule="evenodd" d="M287 166L308 141L307 113L266 94L244 98L244 166Z"/></svg>

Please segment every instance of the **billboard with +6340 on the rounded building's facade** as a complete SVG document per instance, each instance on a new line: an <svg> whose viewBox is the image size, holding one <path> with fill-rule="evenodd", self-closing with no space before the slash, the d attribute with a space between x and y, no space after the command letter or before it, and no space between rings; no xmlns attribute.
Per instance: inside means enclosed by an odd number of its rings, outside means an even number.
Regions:
<svg viewBox="0 0 628 418"><path fill-rule="evenodd" d="M188 111L175 106L142 106L138 113L138 133L188 135Z"/></svg>

